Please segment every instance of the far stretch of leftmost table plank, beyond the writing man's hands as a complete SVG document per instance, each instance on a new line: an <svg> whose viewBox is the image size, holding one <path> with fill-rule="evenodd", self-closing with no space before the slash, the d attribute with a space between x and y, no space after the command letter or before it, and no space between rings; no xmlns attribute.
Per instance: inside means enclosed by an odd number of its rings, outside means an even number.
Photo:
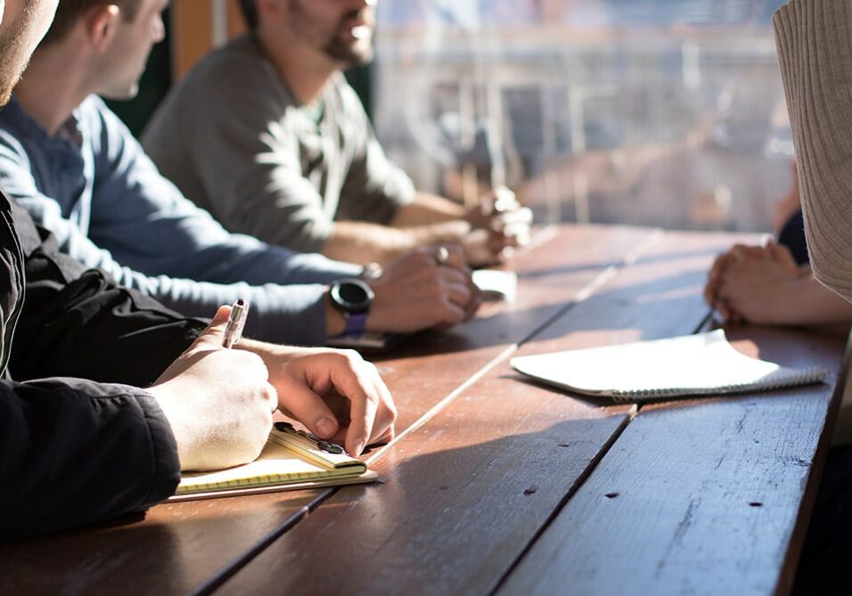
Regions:
<svg viewBox="0 0 852 596"><path fill-rule="evenodd" d="M397 431L420 420L507 348L551 321L603 270L620 265L653 234L641 228L566 226L514 259L519 288L512 304L488 305L470 322L422 333L392 357L379 360L399 410Z"/></svg>

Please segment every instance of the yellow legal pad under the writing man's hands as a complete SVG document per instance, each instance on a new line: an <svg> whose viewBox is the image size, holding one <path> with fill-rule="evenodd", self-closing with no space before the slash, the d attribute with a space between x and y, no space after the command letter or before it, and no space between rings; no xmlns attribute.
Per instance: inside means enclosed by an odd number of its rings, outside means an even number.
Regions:
<svg viewBox="0 0 852 596"><path fill-rule="evenodd" d="M376 478L363 461L339 445L276 422L257 460L236 468L184 473L170 500L360 484Z"/></svg>

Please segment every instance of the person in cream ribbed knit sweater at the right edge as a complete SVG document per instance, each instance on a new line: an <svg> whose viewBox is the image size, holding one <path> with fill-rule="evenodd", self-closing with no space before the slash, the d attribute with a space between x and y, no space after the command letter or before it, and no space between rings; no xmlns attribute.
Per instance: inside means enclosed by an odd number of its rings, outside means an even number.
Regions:
<svg viewBox="0 0 852 596"><path fill-rule="evenodd" d="M816 279L852 301L852 2L791 0L773 19ZM852 448L829 455L795 593L850 593Z"/></svg>

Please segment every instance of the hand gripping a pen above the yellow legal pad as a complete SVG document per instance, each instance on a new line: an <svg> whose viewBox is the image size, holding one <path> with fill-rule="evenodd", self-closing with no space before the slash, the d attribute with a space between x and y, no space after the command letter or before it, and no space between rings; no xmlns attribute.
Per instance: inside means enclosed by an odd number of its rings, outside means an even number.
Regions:
<svg viewBox="0 0 852 596"><path fill-rule="evenodd" d="M266 444L276 406L263 361L225 349L229 306L160 375L157 399L177 443L181 469L222 469L252 461Z"/></svg>

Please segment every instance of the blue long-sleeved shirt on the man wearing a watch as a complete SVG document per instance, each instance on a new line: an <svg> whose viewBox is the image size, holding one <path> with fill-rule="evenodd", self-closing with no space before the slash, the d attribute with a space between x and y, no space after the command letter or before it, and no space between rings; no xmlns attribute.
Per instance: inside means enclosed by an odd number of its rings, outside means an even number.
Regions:
<svg viewBox="0 0 852 596"><path fill-rule="evenodd" d="M12 100L0 110L0 186L61 250L190 316L246 298L247 335L325 339L325 285L360 267L227 232L195 207L96 96L47 135Z"/></svg>

